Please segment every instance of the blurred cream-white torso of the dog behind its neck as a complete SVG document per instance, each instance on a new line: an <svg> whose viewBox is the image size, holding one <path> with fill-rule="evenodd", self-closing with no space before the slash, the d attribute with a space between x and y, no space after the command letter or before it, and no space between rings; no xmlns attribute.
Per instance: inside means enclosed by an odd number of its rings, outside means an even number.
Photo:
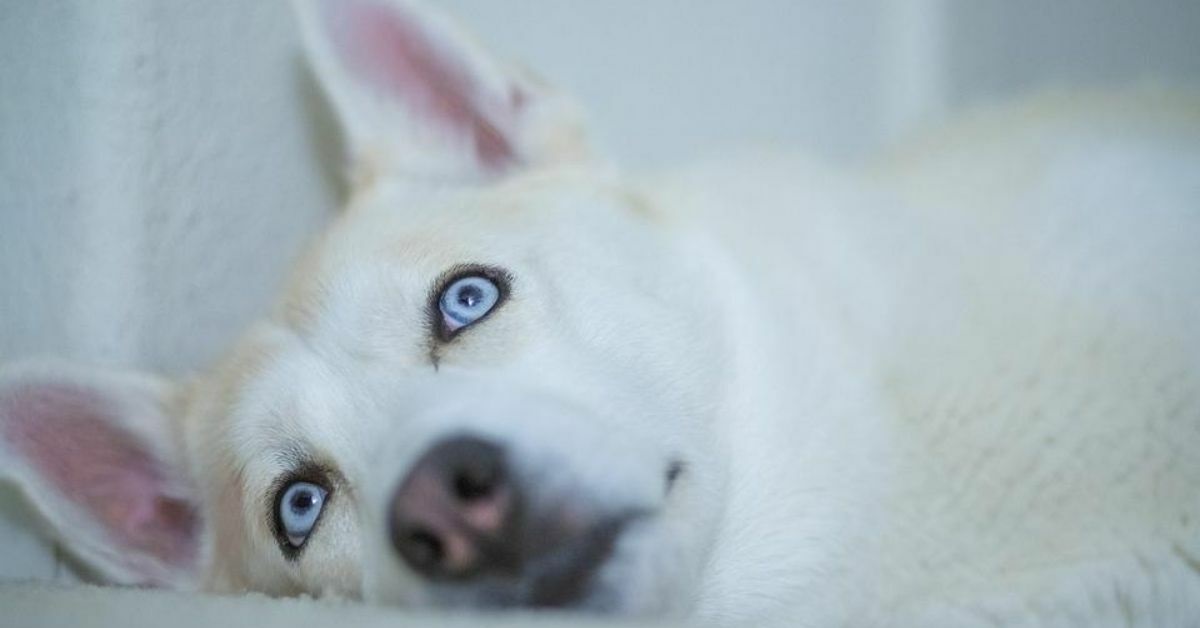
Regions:
<svg viewBox="0 0 1200 628"><path fill-rule="evenodd" d="M944 623L1200 617L1198 112L1043 98L883 177L935 239L882 360L908 513L887 554Z"/></svg>

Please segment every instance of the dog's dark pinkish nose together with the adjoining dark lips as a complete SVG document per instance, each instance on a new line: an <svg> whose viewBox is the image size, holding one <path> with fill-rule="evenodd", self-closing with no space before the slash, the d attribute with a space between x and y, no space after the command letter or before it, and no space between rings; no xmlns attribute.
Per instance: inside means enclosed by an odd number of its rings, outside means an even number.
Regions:
<svg viewBox="0 0 1200 628"><path fill-rule="evenodd" d="M518 484L500 445L473 436L442 441L392 497L391 542L428 580L498 576L522 591L503 604L570 604L635 515L588 515L564 506L569 500L534 508Z"/></svg>

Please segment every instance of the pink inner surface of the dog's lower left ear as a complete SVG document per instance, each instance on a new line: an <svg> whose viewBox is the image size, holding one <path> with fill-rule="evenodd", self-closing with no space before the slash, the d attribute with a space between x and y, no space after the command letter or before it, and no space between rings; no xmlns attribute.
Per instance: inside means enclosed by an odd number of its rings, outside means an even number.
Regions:
<svg viewBox="0 0 1200 628"><path fill-rule="evenodd" d="M196 510L174 495L163 462L120 429L112 412L91 390L34 384L0 397L0 417L7 419L0 427L42 478L95 518L62 522L68 542L72 531L65 526L98 524L122 555L132 550L173 567L192 564Z"/></svg>

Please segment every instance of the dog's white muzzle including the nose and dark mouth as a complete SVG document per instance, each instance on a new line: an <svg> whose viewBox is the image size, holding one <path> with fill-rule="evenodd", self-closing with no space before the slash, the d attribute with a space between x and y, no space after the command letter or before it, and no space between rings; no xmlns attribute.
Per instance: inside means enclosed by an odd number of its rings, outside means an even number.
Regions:
<svg viewBox="0 0 1200 628"><path fill-rule="evenodd" d="M678 465L580 405L439 373L397 390L365 469L365 597L458 609L632 612L672 551ZM480 412L486 408L486 412ZM652 600L653 602L653 600Z"/></svg>

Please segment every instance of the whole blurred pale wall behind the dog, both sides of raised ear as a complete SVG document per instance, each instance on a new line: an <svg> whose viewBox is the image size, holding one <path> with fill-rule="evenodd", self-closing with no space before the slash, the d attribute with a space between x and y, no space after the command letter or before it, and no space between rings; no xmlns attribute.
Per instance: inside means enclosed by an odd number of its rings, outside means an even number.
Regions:
<svg viewBox="0 0 1200 628"><path fill-rule="evenodd" d="M443 0L630 168L856 160L1042 85L1200 84L1196 0ZM0 361L187 373L336 204L287 2L0 0ZM7 514L5 514L7 512ZM0 492L0 576L62 574Z"/></svg>

